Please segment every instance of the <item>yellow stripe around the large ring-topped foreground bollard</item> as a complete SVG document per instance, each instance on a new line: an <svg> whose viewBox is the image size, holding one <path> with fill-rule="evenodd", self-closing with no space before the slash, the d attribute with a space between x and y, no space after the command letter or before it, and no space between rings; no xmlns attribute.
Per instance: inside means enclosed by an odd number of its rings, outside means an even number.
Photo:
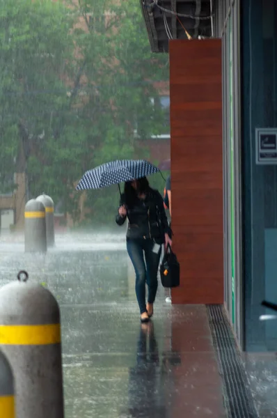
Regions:
<svg viewBox="0 0 277 418"><path fill-rule="evenodd" d="M0 325L0 344L47 346L61 343L61 325Z"/></svg>

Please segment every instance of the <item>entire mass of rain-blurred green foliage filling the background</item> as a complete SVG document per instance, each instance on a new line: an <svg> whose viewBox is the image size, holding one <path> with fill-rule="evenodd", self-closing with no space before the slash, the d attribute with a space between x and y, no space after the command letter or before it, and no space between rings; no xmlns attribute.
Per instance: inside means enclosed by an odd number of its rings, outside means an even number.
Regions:
<svg viewBox="0 0 277 418"><path fill-rule="evenodd" d="M45 192L78 222L84 171L148 157L134 132L143 142L164 127L151 99L167 58L150 52L137 0L0 6L1 178L25 171L28 198ZM117 204L116 187L88 192L86 222L106 222Z"/></svg>

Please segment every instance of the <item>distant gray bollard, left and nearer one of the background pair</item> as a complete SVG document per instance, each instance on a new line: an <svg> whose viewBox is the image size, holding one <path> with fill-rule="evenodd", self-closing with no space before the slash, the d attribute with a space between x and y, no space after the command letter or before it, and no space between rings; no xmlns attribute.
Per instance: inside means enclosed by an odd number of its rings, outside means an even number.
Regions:
<svg viewBox="0 0 277 418"><path fill-rule="evenodd" d="M25 252L46 252L45 206L31 199L25 206Z"/></svg>

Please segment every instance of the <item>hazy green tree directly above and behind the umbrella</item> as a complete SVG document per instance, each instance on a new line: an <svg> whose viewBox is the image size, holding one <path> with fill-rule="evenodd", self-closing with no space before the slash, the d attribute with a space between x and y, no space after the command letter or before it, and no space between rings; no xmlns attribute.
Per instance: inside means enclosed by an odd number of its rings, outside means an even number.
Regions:
<svg viewBox="0 0 277 418"><path fill-rule="evenodd" d="M86 80L97 80L105 118L110 121L108 125L100 115L104 126L100 128L92 167L116 158L147 157L146 149L136 147L134 132L143 140L162 129L164 115L153 107L150 99L159 94L153 81L168 79L167 59L150 52L139 2L106 1L95 5L93 0L79 1L79 11L88 26L86 47L84 38L79 43L88 63ZM109 15L103 22L105 11ZM117 204L116 187L88 193L88 206L95 210L92 218L95 223L113 219L111 213Z"/></svg>

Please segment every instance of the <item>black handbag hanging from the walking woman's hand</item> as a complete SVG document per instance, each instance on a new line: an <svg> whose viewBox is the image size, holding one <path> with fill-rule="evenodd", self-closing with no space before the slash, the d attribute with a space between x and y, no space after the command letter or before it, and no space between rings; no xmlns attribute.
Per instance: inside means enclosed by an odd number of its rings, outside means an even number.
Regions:
<svg viewBox="0 0 277 418"><path fill-rule="evenodd" d="M159 272L161 274L161 284L165 288L180 286L180 264L169 244L166 246L166 252L159 266Z"/></svg>

